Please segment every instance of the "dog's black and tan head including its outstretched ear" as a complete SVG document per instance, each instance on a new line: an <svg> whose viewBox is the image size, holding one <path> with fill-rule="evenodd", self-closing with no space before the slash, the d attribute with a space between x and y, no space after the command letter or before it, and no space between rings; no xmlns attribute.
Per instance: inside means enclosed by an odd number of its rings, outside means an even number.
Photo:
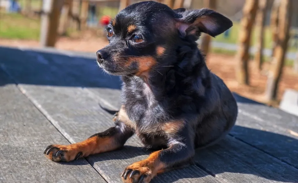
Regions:
<svg viewBox="0 0 298 183"><path fill-rule="evenodd" d="M202 32L215 37L231 26L231 20L210 9L173 10L154 1L136 3L107 26L109 45L97 51L97 62L109 74L142 76L173 63L182 39L195 44Z"/></svg>

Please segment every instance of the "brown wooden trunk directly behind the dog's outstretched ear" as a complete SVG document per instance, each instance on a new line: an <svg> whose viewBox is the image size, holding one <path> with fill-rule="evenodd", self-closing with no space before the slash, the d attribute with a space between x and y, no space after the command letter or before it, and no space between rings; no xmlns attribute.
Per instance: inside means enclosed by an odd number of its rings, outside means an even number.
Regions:
<svg viewBox="0 0 298 183"><path fill-rule="evenodd" d="M216 0L204 0L204 7L209 9L216 9ZM201 35L201 50L207 55L210 48L211 36L208 34L202 33Z"/></svg>

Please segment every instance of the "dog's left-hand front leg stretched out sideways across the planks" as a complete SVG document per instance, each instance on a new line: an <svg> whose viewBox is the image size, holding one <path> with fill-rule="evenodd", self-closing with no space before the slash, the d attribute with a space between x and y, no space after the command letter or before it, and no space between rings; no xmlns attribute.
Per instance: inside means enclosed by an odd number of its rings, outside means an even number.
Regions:
<svg viewBox="0 0 298 183"><path fill-rule="evenodd" d="M127 139L133 135L133 130L121 121L116 122L104 132L97 133L88 139L70 145L49 145L44 154L53 161L72 161L91 154L107 152L122 147Z"/></svg>

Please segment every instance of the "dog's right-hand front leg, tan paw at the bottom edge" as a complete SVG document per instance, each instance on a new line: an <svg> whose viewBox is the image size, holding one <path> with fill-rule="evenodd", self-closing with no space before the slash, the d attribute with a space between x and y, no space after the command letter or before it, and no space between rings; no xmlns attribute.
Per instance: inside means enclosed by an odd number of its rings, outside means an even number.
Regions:
<svg viewBox="0 0 298 183"><path fill-rule="evenodd" d="M171 142L169 143L169 148L153 152L147 159L126 167L122 174L123 182L148 183L157 174L190 160L194 155L192 145L188 146L186 143L179 142L176 139L170 139L169 141Z"/></svg>

